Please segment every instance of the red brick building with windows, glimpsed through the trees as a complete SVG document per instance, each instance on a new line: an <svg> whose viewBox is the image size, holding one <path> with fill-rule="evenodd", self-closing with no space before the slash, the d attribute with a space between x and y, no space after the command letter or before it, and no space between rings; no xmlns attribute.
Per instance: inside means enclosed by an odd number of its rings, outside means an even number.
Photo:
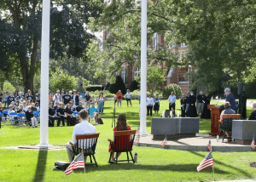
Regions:
<svg viewBox="0 0 256 182"><path fill-rule="evenodd" d="M103 40L106 40L109 36L111 36L111 31L103 31ZM158 33L154 33L152 40L149 40L148 44L153 46L153 48L155 49L171 48L172 51L176 52L177 54L180 54L181 50L187 47L185 43L168 46L166 45L166 41L164 40L164 37ZM166 69L165 63L161 62L159 65L162 66L163 69ZM126 62L122 66L123 66L122 71L117 72L116 76L121 76L125 82L126 88L129 88L131 82L134 80L134 77L138 77L140 75L140 69L135 67L134 65L131 65L131 64L128 65ZM189 66L181 67L181 68L172 67L171 69L167 69L166 82L163 82L161 87L165 87L166 85L169 85L171 83L176 83L182 89L183 94L185 94L186 92L188 92L187 87L189 86L189 80L185 80L183 76L186 72L190 71L191 69L194 69L194 67L191 67L191 68L189 68Z"/></svg>

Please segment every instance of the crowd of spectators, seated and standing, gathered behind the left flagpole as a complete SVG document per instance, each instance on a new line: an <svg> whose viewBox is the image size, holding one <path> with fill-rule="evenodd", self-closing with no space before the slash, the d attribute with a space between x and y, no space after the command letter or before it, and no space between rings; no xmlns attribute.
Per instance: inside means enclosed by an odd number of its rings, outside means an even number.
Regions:
<svg viewBox="0 0 256 182"><path fill-rule="evenodd" d="M38 127L38 118L33 116L34 111L40 112L40 89L38 89L38 94L36 94L36 100L34 102L34 97L31 90L28 90L27 94L23 97L22 93L13 94L12 92L7 93L8 96L4 95L4 103L0 102L0 111L3 112L4 109L8 109L7 113L3 113L3 120L9 118L10 121L15 121L16 124L26 125L28 123L32 128ZM67 126L74 126L79 123L79 111L83 110L83 103L85 109L90 113L91 121L95 120L97 125L98 113L103 111L103 105L105 98L103 94L99 96L97 100L101 107L100 110L95 107L95 103L91 100L90 94L87 91L86 94L80 94L74 89L72 91L66 90L64 94L64 88L60 91L57 90L55 94L50 94L49 90L49 127L55 126L55 121L57 121L57 126L65 126L65 120L67 120ZM2 98L3 99L3 98ZM2 100L0 100L2 101ZM6 107L7 105L7 107ZM10 115L10 113L24 113L23 117Z"/></svg>

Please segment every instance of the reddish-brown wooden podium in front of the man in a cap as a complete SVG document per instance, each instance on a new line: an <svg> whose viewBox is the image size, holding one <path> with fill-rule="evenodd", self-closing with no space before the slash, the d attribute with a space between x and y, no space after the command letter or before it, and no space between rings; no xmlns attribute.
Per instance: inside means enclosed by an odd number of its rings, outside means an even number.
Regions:
<svg viewBox="0 0 256 182"><path fill-rule="evenodd" d="M212 136L217 136L218 132L218 121L220 119L220 113L222 110L218 109L216 105L207 105L208 109L211 109L211 133Z"/></svg>

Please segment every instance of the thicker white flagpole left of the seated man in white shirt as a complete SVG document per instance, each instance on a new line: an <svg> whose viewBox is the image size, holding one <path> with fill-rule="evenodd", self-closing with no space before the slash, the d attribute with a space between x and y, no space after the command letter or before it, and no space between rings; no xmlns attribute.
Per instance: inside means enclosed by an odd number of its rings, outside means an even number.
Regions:
<svg viewBox="0 0 256 182"><path fill-rule="evenodd" d="M48 94L49 94L49 10L50 0L43 0L41 95L40 95L40 146L47 147L48 138Z"/></svg>

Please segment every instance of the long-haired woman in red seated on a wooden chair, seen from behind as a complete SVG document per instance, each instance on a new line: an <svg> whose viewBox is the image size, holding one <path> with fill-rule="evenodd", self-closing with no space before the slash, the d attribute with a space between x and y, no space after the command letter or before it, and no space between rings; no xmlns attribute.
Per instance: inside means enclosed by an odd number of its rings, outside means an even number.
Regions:
<svg viewBox="0 0 256 182"><path fill-rule="evenodd" d="M119 117L118 117L118 122L116 123L116 127L113 128L113 131L124 131L124 130L131 130L131 127L129 125L127 125L126 123L126 116L125 114L119 114ZM129 136L120 136L121 139L119 139L121 142L123 142L123 145L124 144L129 144ZM112 139L108 139L108 141L110 142L113 142ZM108 148L108 152L111 151L111 145L109 144L109 148ZM114 160L116 158L118 158L120 156L121 152L118 152L114 158L114 152L111 154L111 163L114 162Z"/></svg>

